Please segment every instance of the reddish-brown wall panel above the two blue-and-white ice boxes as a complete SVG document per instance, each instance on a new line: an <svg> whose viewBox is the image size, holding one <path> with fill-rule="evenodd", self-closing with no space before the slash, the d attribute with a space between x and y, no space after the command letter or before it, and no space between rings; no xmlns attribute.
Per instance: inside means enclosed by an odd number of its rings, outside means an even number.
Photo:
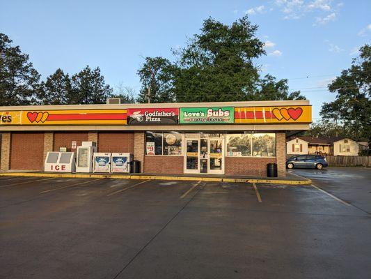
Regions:
<svg viewBox="0 0 371 279"><path fill-rule="evenodd" d="M100 132L98 134L98 152L134 153L133 132Z"/></svg>

